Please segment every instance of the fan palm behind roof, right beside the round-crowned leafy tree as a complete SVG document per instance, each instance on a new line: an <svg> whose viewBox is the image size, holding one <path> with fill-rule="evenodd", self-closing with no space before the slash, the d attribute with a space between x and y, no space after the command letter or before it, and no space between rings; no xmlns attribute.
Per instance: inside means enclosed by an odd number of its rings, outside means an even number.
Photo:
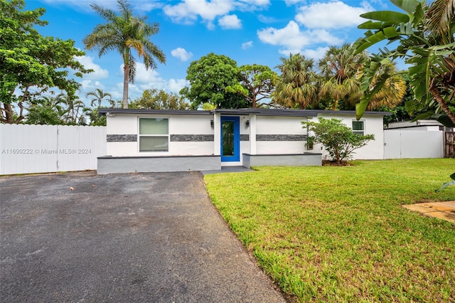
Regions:
<svg viewBox="0 0 455 303"><path fill-rule="evenodd" d="M314 72L314 60L304 55L289 54L289 59L279 58L277 65L281 75L277 79L277 88L273 93L273 102L285 107L299 106L303 110L316 102L317 78Z"/></svg>

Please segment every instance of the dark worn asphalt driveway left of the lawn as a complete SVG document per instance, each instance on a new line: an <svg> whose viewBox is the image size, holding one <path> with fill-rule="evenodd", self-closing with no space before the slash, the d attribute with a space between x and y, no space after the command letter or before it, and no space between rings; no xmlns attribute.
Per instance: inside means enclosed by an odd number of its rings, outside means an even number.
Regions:
<svg viewBox="0 0 455 303"><path fill-rule="evenodd" d="M0 302L284 302L199 172L0 178Z"/></svg>

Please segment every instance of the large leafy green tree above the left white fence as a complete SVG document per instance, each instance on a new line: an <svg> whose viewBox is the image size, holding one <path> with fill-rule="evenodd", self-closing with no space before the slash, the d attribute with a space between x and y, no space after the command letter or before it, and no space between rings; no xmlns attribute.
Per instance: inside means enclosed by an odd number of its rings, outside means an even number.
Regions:
<svg viewBox="0 0 455 303"><path fill-rule="evenodd" d="M23 0L0 0L0 109L2 123L18 123L24 119L27 101L58 87L74 95L86 70L76 57L84 55L72 40L41 36L36 26L45 9L23 11ZM70 77L70 72L73 75ZM16 95L16 92L20 92ZM15 105L19 112L16 114Z"/></svg>

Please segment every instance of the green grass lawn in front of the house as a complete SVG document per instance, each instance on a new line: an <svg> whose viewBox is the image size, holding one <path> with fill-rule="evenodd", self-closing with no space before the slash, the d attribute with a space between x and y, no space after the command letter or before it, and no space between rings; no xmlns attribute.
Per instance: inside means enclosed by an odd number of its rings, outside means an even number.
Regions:
<svg viewBox="0 0 455 303"><path fill-rule="evenodd" d="M434 190L455 159L259 167L205 176L208 193L259 265L299 302L455 302L455 225L402 204Z"/></svg>

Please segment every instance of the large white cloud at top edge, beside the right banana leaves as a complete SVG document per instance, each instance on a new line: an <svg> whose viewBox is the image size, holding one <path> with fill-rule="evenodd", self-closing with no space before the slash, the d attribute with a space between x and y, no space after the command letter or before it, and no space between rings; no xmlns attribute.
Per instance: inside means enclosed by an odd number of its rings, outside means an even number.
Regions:
<svg viewBox="0 0 455 303"><path fill-rule="evenodd" d="M362 6L349 6L341 1L316 2L299 8L295 19L307 28L345 28L363 23L360 14L373 10L367 2Z"/></svg>

